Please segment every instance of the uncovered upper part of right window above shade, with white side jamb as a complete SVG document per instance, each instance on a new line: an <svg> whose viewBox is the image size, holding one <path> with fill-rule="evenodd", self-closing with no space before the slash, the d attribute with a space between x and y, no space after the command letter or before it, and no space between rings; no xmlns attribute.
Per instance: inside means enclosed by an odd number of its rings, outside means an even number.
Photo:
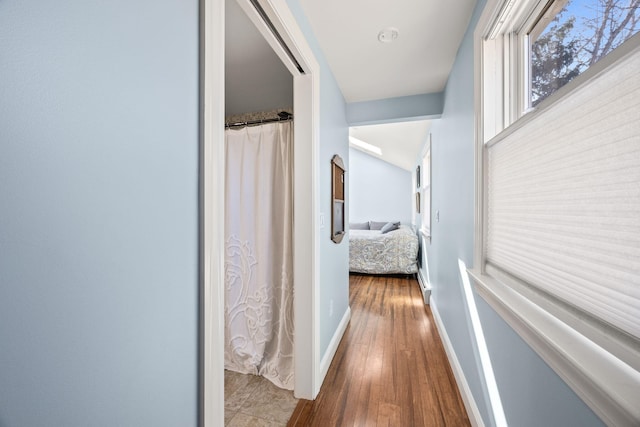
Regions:
<svg viewBox="0 0 640 427"><path fill-rule="evenodd" d="M640 30L640 0L490 0L485 11L485 142Z"/></svg>

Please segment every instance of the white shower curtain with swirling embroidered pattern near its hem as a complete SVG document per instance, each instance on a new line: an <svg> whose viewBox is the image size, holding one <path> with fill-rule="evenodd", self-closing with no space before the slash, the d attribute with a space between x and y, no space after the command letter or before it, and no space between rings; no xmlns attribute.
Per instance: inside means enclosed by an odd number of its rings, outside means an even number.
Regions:
<svg viewBox="0 0 640 427"><path fill-rule="evenodd" d="M229 129L225 368L293 390L292 122Z"/></svg>

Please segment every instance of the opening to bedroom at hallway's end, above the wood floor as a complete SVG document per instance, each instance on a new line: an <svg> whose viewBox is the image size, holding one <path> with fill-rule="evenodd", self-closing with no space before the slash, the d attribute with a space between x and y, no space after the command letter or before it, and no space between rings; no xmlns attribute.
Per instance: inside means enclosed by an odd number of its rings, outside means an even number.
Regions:
<svg viewBox="0 0 640 427"><path fill-rule="evenodd" d="M430 120L412 120L349 129L351 272L419 272L426 195L419 159L430 127ZM371 245L384 249L372 257Z"/></svg>

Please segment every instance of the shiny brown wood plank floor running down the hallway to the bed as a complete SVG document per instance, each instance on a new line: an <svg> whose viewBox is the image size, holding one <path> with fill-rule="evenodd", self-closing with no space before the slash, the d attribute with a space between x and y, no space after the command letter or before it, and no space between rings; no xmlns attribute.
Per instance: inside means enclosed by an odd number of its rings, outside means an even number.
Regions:
<svg viewBox="0 0 640 427"><path fill-rule="evenodd" d="M318 397L287 426L469 426L416 280L351 275L350 305Z"/></svg>

